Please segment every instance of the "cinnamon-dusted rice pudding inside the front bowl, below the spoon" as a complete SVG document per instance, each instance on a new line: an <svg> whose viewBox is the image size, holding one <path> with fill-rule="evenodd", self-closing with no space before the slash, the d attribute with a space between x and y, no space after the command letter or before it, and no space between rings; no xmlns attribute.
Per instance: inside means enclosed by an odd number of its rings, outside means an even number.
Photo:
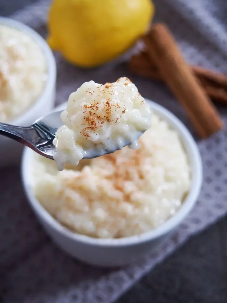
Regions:
<svg viewBox="0 0 227 303"><path fill-rule="evenodd" d="M34 153L32 170L40 204L62 225L95 238L155 229L178 211L191 186L179 135L155 113L138 149L126 146L63 171Z"/></svg>

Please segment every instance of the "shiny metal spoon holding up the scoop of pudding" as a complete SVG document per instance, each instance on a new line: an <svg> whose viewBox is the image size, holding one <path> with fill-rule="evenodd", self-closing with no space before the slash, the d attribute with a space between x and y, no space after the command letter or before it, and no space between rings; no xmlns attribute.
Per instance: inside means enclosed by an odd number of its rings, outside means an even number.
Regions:
<svg viewBox="0 0 227 303"><path fill-rule="evenodd" d="M49 115L36 120L31 126L15 126L6 123L0 123L0 135L11 138L23 145L26 145L33 149L36 153L49 158L54 159L53 156L56 153L53 139L57 129L63 125L60 115L62 111L55 111ZM138 132L138 138L142 135L142 132ZM126 142L129 145L130 142ZM115 150L119 149L116 147ZM84 158L96 158L104 154L113 153L115 150L97 149L94 153L88 153Z"/></svg>

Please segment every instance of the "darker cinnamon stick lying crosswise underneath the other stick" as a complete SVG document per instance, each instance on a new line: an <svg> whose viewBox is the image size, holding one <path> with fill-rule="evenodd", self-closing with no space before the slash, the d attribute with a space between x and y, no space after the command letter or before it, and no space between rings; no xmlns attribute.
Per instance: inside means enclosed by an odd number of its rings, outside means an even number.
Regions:
<svg viewBox="0 0 227 303"><path fill-rule="evenodd" d="M159 70L152 65L147 57L146 53L141 53L140 55L133 56L129 61L129 69L132 73L150 78L151 80L164 81ZM225 77L222 74L211 72L207 69L203 69L196 66L191 66L192 72L200 80L201 85L206 91L207 95L215 102L227 104L227 89L225 86L222 86L219 82L219 76L221 78ZM199 71L199 72L198 72ZM206 73L208 71L209 73ZM205 74L203 74L205 72ZM217 74L217 78L216 78ZM213 79L213 82L210 81L210 76Z"/></svg>

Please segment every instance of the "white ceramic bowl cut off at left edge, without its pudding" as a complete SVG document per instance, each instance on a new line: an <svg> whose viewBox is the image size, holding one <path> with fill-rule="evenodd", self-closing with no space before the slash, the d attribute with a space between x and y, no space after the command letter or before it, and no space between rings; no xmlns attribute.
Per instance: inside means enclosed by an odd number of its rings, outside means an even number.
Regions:
<svg viewBox="0 0 227 303"><path fill-rule="evenodd" d="M46 57L48 78L42 95L27 109L27 111L23 112L14 120L9 121L10 124L28 126L39 117L46 115L54 107L56 93L56 61L52 50L49 48L46 41L30 27L13 19L3 17L0 17L0 24L14 27L27 33L27 35L31 36L41 47L44 56ZM0 136L0 167L19 163L22 150L23 145L9 138Z"/></svg>

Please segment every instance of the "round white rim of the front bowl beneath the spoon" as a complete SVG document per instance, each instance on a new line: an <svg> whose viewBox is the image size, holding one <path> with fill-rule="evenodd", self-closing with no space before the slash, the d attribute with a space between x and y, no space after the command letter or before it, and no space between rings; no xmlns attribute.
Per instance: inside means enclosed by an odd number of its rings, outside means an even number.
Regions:
<svg viewBox="0 0 227 303"><path fill-rule="evenodd" d="M102 247L132 246L132 245L137 245L143 242L154 240L174 230L184 220L184 218L188 215L188 213L193 208L199 196L201 185L202 185L202 179L203 179L202 160L198 146L195 140L193 139L192 135L186 128L186 126L184 126L184 124L174 114L172 114L165 107L149 99L146 100L150 103L151 110L155 112L157 115L159 115L161 118L163 118L163 120L167 120L167 122L171 125L171 128L176 129L176 131L179 133L185 152L188 156L192 170L191 173L192 184L188 196L184 200L184 203L179 208L179 210L167 221L165 221L162 225L158 226L155 229L147 231L146 233L143 233L141 235L130 236L125 238L117 238L117 239L113 239L113 238L103 239L103 238L92 238L87 235L74 233L70 231L67 227L61 225L57 220L55 220L35 198L35 195L31 188L31 184L29 184L28 182L29 167L27 166L27 159L28 158L32 159L31 157L34 152L30 150L28 147L25 147L23 151L22 162L21 162L21 178L22 178L24 191L27 196L27 200L31 205L32 209L34 210L34 212L38 215L38 217L42 217L42 219L49 226L51 225L51 227L55 229L55 231L58 234L61 234L65 238L69 238L70 240L76 242L82 242L84 244L92 245L92 246L102 246ZM63 105L65 106L65 104L66 103L61 104L60 106L57 107L57 109L58 110L63 109L64 108Z"/></svg>

